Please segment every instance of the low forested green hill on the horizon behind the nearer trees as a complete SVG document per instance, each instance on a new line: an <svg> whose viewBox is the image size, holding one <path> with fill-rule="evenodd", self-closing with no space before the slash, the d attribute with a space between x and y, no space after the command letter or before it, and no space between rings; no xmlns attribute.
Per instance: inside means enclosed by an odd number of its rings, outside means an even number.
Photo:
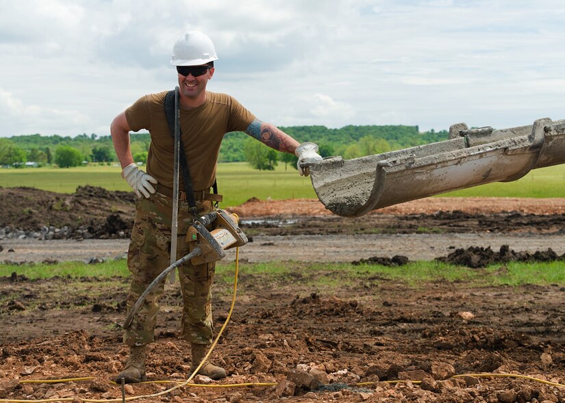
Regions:
<svg viewBox="0 0 565 403"><path fill-rule="evenodd" d="M329 129L325 126L280 127L299 142L315 142L329 155L345 158L382 153L447 140L447 131L420 132L418 126L368 125L345 126ZM221 162L245 161L244 143L249 136L243 132L227 133L220 151ZM151 139L149 133L131 135L131 152L147 153ZM60 135L16 135L0 139L0 156L4 153L24 153L25 161L51 163L51 155L62 146L75 148L86 161L117 161L110 135L82 133L74 137ZM1 165L2 163L0 161Z"/></svg>

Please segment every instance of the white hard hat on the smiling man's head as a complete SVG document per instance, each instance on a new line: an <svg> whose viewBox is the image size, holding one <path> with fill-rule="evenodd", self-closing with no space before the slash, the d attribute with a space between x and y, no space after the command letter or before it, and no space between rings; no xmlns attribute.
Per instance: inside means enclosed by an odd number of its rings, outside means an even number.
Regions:
<svg viewBox="0 0 565 403"><path fill-rule="evenodd" d="M199 66L218 60L212 40L200 31L187 32L173 47L173 66Z"/></svg>

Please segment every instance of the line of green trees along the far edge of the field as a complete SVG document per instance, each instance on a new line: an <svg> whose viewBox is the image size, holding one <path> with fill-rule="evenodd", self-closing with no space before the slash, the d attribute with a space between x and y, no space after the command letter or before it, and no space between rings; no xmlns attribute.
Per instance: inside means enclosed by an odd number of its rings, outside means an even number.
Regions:
<svg viewBox="0 0 565 403"><path fill-rule="evenodd" d="M279 127L299 142L315 142L323 157L340 155L344 159L362 157L447 140L445 130L420 132L418 126L367 125L329 129L325 126ZM131 134L134 161L145 164L151 138L149 133ZM81 164L112 164L118 161L110 135L82 133L74 137L60 135L17 135L0 138L0 166L20 168L56 165L60 168ZM247 161L253 168L272 170L282 162L296 163L296 158L262 145L243 132L227 133L220 149L220 162Z"/></svg>

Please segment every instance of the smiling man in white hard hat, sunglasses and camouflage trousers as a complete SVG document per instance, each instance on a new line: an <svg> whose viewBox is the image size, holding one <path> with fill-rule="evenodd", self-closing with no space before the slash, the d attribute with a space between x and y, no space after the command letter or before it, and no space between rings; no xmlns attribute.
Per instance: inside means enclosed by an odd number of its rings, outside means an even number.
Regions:
<svg viewBox="0 0 565 403"><path fill-rule="evenodd" d="M290 135L267 122L258 120L236 99L227 94L206 91L214 76L217 60L212 40L201 32L188 32L173 47L171 64L177 67L179 83L180 127L194 198L198 214L214 209L218 195L210 193L216 179L216 164L221 140L229 131L245 131L277 151L294 153L299 158L298 169L307 175L302 165L321 159L313 143L299 144ZM112 121L110 132L116 154L123 168L122 177L139 197L136 218L131 231L127 265L131 285L127 296L128 311L160 272L170 263L171 217L173 207L173 137L165 112L165 92L149 94L138 99ZM139 170L131 156L129 131L147 129L151 144L147 157L147 173ZM182 179L180 190L184 190ZM186 194L181 192L178 211L177 259L188 253L184 241L192 216L188 212ZM212 343L212 304L210 287L214 279L214 263L186 264L179 268L179 280L184 310L181 319L182 335L192 348L192 367L200 364ZM117 382L145 380L145 350L154 340L159 311L159 299L164 284L155 287L145 299L138 315L124 333L124 343L130 354ZM226 376L221 367L206 363L199 374L212 379Z"/></svg>

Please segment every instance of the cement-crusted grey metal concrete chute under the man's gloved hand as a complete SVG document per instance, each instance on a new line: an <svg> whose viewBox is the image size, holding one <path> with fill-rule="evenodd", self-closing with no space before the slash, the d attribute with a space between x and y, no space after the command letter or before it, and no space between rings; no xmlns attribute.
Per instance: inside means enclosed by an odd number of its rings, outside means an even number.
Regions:
<svg viewBox="0 0 565 403"><path fill-rule="evenodd" d="M359 217L371 210L565 163L565 120L538 119L510 129L449 128L449 140L367 157L331 157L310 166L326 209Z"/></svg>

